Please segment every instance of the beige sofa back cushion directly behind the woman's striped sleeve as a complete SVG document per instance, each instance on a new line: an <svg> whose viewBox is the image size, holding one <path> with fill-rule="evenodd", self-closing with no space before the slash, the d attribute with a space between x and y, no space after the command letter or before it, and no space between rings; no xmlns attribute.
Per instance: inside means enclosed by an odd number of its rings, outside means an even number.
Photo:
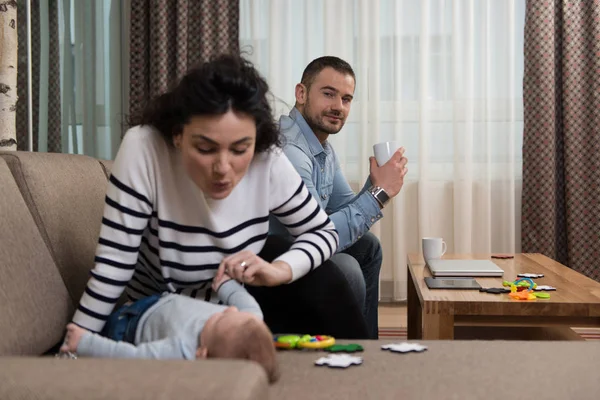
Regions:
<svg viewBox="0 0 600 400"><path fill-rule="evenodd" d="M14 152L1 157L78 303L94 266L108 182L104 168L79 155Z"/></svg>

